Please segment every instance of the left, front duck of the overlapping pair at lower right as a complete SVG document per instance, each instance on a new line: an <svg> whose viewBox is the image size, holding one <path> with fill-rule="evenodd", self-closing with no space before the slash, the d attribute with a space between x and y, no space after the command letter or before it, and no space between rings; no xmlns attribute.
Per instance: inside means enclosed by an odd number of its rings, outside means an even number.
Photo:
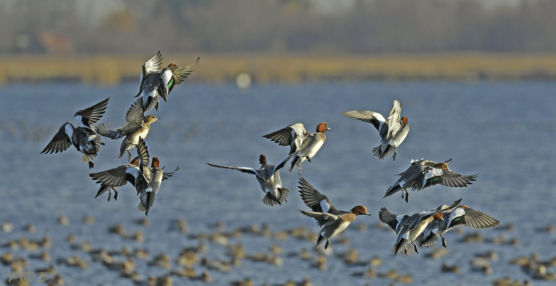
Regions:
<svg viewBox="0 0 556 286"><path fill-rule="evenodd" d="M420 213L415 213L413 215L407 214L393 214L390 213L386 208L381 208L379 212L379 219L381 222L388 224L388 226L396 232L396 243L394 244L394 256L398 254L403 248L405 255L408 254L408 249L406 244L413 243L415 247L415 252L419 253L417 249L417 244L414 240L419 236L427 225L435 219L444 220L443 213L451 212L454 208L461 202L461 199L456 200L453 204L449 206L444 206L437 210L431 210L429 212L424 211Z"/></svg>

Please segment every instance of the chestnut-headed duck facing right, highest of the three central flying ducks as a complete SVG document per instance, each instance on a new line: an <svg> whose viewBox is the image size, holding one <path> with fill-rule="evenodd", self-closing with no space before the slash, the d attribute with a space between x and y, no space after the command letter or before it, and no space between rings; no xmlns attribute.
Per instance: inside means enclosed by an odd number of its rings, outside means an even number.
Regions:
<svg viewBox="0 0 556 286"><path fill-rule="evenodd" d="M322 122L316 127L316 133L309 133L305 130L305 127L301 123L292 124L285 128L280 129L269 134L266 134L265 138L269 138L282 146L290 146L290 155L294 155L291 159L291 167L288 172L294 169L297 165L298 172L301 174L301 163L305 160L311 162L311 158L320 149L324 141L326 140L325 131L329 131L330 128L327 126L326 122Z"/></svg>

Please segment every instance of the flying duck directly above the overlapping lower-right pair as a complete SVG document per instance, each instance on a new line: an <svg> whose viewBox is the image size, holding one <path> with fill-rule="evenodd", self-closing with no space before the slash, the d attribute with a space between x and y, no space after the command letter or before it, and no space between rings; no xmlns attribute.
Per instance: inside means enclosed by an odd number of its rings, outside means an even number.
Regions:
<svg viewBox="0 0 556 286"><path fill-rule="evenodd" d="M386 190L383 198L389 197L401 190L401 197L408 202L409 192L411 190L421 190L433 185L441 184L446 187L467 187L473 184L471 181L476 180L478 174L461 175L454 173L448 168L451 159L444 163L436 163L430 160L411 160L411 166L403 173L398 174L400 178Z"/></svg>

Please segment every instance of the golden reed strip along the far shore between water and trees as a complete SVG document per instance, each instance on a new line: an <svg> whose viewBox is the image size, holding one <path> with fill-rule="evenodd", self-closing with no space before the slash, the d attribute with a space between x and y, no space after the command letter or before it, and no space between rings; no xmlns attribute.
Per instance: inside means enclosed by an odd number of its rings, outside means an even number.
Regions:
<svg viewBox="0 0 556 286"><path fill-rule="evenodd" d="M154 54L154 53L153 53ZM0 84L77 81L115 85L137 81L141 64L152 55L104 54L81 56L0 57ZM201 57L187 81L233 82L249 73L257 83L322 81L424 80L519 81L556 79L555 53L418 53L349 54L308 53L163 53L168 63L188 66Z"/></svg>

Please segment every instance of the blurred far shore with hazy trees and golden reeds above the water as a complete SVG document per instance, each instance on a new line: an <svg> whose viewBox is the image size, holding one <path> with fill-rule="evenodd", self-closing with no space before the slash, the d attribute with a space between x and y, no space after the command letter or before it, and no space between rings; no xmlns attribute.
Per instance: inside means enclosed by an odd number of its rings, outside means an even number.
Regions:
<svg viewBox="0 0 556 286"><path fill-rule="evenodd" d="M552 0L0 1L0 82L117 84L161 50L194 81L554 78Z"/></svg>

